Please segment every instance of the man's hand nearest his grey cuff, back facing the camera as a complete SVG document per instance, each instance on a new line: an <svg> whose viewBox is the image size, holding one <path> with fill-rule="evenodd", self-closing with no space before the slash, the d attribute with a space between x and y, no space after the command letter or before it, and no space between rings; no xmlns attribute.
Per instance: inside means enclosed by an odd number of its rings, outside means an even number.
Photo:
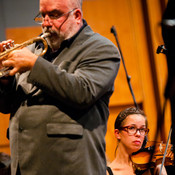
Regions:
<svg viewBox="0 0 175 175"><path fill-rule="evenodd" d="M8 54L6 59L2 61L2 66L9 67L9 75L13 76L16 73L23 73L31 70L38 56L33 54L29 49L17 49Z"/></svg>

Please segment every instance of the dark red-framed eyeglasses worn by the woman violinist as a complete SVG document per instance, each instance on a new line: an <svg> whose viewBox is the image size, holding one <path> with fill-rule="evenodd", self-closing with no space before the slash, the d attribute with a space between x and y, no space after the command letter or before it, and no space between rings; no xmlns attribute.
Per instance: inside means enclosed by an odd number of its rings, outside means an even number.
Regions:
<svg viewBox="0 0 175 175"><path fill-rule="evenodd" d="M144 136L148 134L149 129L148 128L136 128L135 126L124 126L121 127L119 130L124 130L128 132L129 135L134 135L139 131L140 135Z"/></svg>

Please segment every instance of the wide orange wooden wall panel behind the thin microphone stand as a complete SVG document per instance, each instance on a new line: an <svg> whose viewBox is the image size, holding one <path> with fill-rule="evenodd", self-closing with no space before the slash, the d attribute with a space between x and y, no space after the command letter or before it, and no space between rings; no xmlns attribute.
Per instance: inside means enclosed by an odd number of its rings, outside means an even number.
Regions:
<svg viewBox="0 0 175 175"><path fill-rule="evenodd" d="M130 1L93 0L85 1L83 5L84 18L94 31L102 34L116 44L110 29L115 26L128 74L132 77L131 84L138 102L143 101L143 91L140 79L135 29L133 25ZM131 66L132 65L132 66ZM115 92L110 105L133 104L123 65L115 81Z"/></svg>

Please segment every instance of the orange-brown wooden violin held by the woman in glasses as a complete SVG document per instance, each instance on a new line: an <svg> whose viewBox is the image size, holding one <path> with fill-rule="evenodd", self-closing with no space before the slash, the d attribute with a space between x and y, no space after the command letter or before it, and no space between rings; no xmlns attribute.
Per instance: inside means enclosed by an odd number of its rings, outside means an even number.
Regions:
<svg viewBox="0 0 175 175"><path fill-rule="evenodd" d="M165 153L166 144L163 142L148 142L145 148L133 153L130 158L135 170L146 170L148 168L155 168L162 163ZM165 156L164 166L173 165L174 154L172 152L172 144L168 145Z"/></svg>

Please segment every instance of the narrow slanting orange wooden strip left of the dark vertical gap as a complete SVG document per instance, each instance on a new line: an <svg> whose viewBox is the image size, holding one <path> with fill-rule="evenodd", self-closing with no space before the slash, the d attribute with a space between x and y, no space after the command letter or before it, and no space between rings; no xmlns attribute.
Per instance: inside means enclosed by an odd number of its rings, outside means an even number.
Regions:
<svg viewBox="0 0 175 175"><path fill-rule="evenodd" d="M157 129L157 109L142 1L132 1L130 5L133 9L132 16L135 28L135 44L137 46L136 48L139 57L140 81L142 82L142 91L144 94L143 109L148 117L150 128L149 137L152 140L154 139L154 133Z"/></svg>

